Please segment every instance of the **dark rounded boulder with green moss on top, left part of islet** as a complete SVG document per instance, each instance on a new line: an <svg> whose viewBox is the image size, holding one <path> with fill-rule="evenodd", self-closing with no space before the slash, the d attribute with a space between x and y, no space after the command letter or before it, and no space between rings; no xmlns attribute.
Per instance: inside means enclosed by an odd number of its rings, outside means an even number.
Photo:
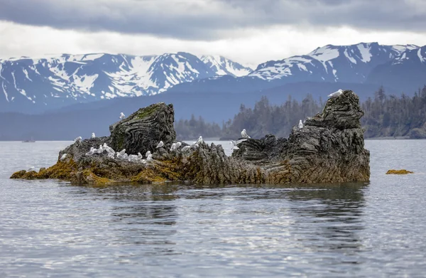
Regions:
<svg viewBox="0 0 426 278"><path fill-rule="evenodd" d="M160 140L164 142L164 148L170 147L176 140L173 122L173 105L160 102L138 109L129 117L111 124L111 147L126 149L128 154L154 152Z"/></svg>

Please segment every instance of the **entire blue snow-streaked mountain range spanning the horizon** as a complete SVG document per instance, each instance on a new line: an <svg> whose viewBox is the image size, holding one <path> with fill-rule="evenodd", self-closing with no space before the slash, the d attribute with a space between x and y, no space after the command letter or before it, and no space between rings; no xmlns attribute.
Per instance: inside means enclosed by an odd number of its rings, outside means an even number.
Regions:
<svg viewBox="0 0 426 278"><path fill-rule="evenodd" d="M285 85L307 82L315 82L316 87L383 85L395 94L411 94L426 83L426 46L327 45L255 69L222 56L184 52L9 58L0 60L0 109L36 113L117 97L280 91ZM308 92L283 93L305 96Z"/></svg>

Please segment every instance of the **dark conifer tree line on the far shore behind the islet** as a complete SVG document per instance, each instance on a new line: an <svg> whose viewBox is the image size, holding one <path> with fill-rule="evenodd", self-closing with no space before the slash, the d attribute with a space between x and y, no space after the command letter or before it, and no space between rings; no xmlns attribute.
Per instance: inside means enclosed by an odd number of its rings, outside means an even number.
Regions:
<svg viewBox="0 0 426 278"><path fill-rule="evenodd" d="M288 137L291 128L300 119L312 117L322 111L325 102L308 94L301 102L288 98L281 105L271 105L267 97L261 97L253 108L240 105L234 119L217 123L206 122L202 117L180 119L175 123L178 139L204 138L236 139L242 129L253 138L266 134ZM417 90L413 97L402 94L386 95L379 87L373 97L361 102L364 117L361 118L365 137L426 138L426 86Z"/></svg>

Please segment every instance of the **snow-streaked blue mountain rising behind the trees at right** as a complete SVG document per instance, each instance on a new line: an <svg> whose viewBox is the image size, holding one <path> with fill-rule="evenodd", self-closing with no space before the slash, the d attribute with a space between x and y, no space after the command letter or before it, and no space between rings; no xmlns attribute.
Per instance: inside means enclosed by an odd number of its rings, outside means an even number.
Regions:
<svg viewBox="0 0 426 278"><path fill-rule="evenodd" d="M249 76L283 82L364 82L376 66L388 63L407 50L418 48L413 45L381 46L378 43L327 45L307 55L268 61L258 65Z"/></svg>

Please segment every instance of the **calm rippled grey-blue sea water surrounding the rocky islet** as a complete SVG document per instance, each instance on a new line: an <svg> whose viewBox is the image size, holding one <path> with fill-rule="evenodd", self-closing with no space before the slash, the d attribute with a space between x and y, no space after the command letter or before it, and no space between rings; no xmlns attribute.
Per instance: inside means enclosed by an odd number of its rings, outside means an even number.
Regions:
<svg viewBox="0 0 426 278"><path fill-rule="evenodd" d="M9 179L54 164L67 144L0 142L0 277L426 275L426 141L366 141L370 183L93 187ZM386 176L388 169L415 174Z"/></svg>

